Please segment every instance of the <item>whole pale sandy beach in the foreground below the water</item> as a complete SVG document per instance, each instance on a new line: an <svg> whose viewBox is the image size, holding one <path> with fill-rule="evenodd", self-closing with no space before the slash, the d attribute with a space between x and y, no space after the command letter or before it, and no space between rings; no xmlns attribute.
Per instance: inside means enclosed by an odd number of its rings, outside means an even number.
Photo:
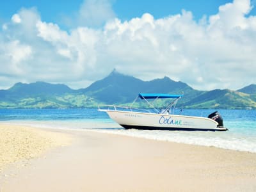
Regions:
<svg viewBox="0 0 256 192"><path fill-rule="evenodd" d="M8 167L0 172L1 192L256 191L256 154L249 152L84 130L1 124L0 132L1 166ZM24 141L31 132L28 138L40 139ZM10 161L12 145L3 138L20 138L20 148L32 142L38 152ZM15 166L20 159L28 165Z"/></svg>

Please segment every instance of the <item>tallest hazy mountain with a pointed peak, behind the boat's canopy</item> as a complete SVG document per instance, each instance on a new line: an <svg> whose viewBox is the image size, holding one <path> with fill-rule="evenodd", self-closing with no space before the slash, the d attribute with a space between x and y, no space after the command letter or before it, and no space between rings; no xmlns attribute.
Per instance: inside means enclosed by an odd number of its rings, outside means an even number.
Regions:
<svg viewBox="0 0 256 192"><path fill-rule="evenodd" d="M132 102L138 93L198 93L188 84L172 81L169 77L142 81L132 76L125 76L113 70L108 77L96 81L79 93L109 104Z"/></svg>

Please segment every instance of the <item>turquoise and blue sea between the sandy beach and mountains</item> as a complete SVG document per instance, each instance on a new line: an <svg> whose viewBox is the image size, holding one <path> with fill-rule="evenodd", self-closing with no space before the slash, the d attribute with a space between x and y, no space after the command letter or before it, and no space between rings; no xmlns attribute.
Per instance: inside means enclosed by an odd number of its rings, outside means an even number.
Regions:
<svg viewBox="0 0 256 192"><path fill-rule="evenodd" d="M183 109L182 115L208 116L216 109ZM120 134L256 153L256 110L219 109L228 131L148 131L123 129L96 108L0 109L0 122L56 129Z"/></svg>

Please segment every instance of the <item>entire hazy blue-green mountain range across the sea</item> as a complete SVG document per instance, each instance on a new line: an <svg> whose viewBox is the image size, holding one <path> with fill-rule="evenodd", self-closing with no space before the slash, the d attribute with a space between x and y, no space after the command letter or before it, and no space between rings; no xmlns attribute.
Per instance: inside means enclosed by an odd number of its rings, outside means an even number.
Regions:
<svg viewBox="0 0 256 192"><path fill-rule="evenodd" d="M200 91L169 77L142 81L116 70L79 90L65 84L16 83L8 90L0 90L0 108L92 108L102 104L130 104L138 93L184 94L177 104L182 108L256 109L256 84L236 91Z"/></svg>

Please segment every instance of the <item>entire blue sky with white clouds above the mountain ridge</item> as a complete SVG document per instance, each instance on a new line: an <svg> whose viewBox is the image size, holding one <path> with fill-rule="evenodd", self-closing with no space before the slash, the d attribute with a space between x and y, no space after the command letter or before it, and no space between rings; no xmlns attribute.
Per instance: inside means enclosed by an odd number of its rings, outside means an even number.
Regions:
<svg viewBox="0 0 256 192"><path fill-rule="evenodd" d="M255 0L2 1L0 89L84 88L113 68L199 90L256 83Z"/></svg>

